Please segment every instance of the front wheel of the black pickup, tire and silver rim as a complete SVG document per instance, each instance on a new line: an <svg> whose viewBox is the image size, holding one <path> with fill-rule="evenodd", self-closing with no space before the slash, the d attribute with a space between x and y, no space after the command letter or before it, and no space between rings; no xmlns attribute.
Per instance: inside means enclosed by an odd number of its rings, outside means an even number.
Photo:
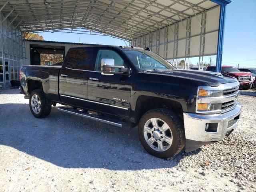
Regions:
<svg viewBox="0 0 256 192"><path fill-rule="evenodd" d="M146 112L140 119L138 129L143 147L154 156L170 158L185 146L183 123L168 109Z"/></svg>

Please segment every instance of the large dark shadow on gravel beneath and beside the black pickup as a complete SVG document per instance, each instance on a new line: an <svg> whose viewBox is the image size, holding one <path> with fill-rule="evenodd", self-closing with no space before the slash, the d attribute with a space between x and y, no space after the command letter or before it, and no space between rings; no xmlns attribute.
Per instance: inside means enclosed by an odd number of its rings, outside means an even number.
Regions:
<svg viewBox="0 0 256 192"><path fill-rule="evenodd" d="M156 158L140 144L137 128L116 128L64 114L57 107L47 118L37 119L28 104L0 104L0 120L1 145L64 168L170 168L184 155L170 160Z"/></svg>

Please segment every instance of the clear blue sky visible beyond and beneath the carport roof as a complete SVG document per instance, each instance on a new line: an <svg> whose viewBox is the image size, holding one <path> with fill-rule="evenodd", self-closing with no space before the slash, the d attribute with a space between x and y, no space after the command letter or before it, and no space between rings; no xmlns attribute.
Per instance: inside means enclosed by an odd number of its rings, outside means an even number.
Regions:
<svg viewBox="0 0 256 192"><path fill-rule="evenodd" d="M42 32L44 40L106 45L128 45L128 42L109 36ZM204 61L216 63L216 56ZM191 58L196 64L198 58ZM227 5L222 65L256 67L256 0L233 0Z"/></svg>

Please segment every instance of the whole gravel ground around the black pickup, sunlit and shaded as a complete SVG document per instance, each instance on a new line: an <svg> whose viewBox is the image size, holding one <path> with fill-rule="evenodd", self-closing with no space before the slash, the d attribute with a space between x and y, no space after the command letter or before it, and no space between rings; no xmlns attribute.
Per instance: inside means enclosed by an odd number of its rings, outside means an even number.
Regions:
<svg viewBox="0 0 256 192"><path fill-rule="evenodd" d="M137 128L64 114L60 105L36 119L17 89L2 90L0 191L256 191L256 90L239 101L228 138L162 160L143 149Z"/></svg>

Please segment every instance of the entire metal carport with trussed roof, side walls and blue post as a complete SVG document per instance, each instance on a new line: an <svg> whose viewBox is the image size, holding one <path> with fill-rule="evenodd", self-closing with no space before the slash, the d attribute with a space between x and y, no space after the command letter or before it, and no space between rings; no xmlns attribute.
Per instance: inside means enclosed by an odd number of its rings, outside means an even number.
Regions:
<svg viewBox="0 0 256 192"><path fill-rule="evenodd" d="M0 2L0 84L24 63L22 33L108 35L177 58L217 55L220 72L226 4L231 0L8 0ZM2 70L1 70L2 68ZM13 68L13 70L10 70ZM8 74L8 79L6 75ZM2 75L2 79L1 79Z"/></svg>

